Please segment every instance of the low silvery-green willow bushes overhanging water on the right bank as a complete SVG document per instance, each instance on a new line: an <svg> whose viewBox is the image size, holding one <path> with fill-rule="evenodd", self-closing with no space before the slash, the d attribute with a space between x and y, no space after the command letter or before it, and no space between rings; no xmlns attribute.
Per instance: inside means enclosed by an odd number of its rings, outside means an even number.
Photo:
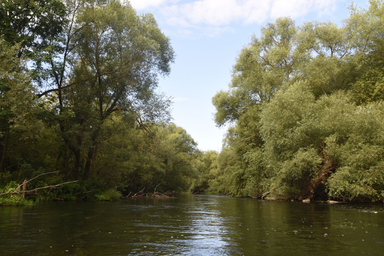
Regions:
<svg viewBox="0 0 384 256"><path fill-rule="evenodd" d="M277 94L261 117L266 161L278 195L300 193L329 168L334 173L330 196L381 198L382 103L354 106L341 93L315 100L306 86L296 84Z"/></svg>

